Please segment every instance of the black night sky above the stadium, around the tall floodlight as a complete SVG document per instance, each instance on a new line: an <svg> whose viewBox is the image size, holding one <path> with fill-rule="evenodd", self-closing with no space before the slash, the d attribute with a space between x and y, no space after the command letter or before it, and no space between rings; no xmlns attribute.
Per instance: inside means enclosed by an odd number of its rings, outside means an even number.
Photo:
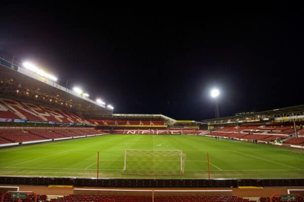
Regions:
<svg viewBox="0 0 304 202"><path fill-rule="evenodd" d="M45 67L115 113L182 120L304 103L303 14L2 5L0 53ZM172 9L173 10L173 9Z"/></svg>

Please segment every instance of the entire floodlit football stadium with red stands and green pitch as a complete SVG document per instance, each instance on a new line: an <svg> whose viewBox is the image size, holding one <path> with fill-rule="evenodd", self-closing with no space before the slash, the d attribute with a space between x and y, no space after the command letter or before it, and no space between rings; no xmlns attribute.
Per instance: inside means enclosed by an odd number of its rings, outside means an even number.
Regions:
<svg viewBox="0 0 304 202"><path fill-rule="evenodd" d="M114 114L32 64L0 65L2 201L303 200L304 105L199 122Z"/></svg>

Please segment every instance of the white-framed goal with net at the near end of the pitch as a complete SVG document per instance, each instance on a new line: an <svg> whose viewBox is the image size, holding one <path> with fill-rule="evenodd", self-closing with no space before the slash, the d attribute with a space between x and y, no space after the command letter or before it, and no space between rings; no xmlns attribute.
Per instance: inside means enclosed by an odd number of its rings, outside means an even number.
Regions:
<svg viewBox="0 0 304 202"><path fill-rule="evenodd" d="M182 150L126 149L125 175L184 175L186 155Z"/></svg>

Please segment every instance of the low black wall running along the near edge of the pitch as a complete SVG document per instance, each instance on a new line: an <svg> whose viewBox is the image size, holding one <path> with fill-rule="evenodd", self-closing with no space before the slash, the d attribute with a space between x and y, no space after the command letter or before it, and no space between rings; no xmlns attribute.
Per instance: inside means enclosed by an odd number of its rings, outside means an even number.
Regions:
<svg viewBox="0 0 304 202"><path fill-rule="evenodd" d="M199 188L239 186L304 186L304 179L91 179L50 177L0 177L8 185L73 185L74 187Z"/></svg>

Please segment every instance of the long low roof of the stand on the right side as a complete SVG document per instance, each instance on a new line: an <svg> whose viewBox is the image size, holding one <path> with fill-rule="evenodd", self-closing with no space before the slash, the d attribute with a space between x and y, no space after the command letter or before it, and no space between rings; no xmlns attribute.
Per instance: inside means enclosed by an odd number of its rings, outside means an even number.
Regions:
<svg viewBox="0 0 304 202"><path fill-rule="evenodd" d="M235 116L230 116L230 117L206 119L203 120L203 122L207 122L210 124L219 124L219 123L224 124L224 123L243 121L243 120L247 120L247 122L254 122L255 120L258 119L260 119L261 121L268 121L278 117L291 117L291 116L301 116L301 115L304 115L304 105L267 110L261 112L239 113L236 114Z"/></svg>

